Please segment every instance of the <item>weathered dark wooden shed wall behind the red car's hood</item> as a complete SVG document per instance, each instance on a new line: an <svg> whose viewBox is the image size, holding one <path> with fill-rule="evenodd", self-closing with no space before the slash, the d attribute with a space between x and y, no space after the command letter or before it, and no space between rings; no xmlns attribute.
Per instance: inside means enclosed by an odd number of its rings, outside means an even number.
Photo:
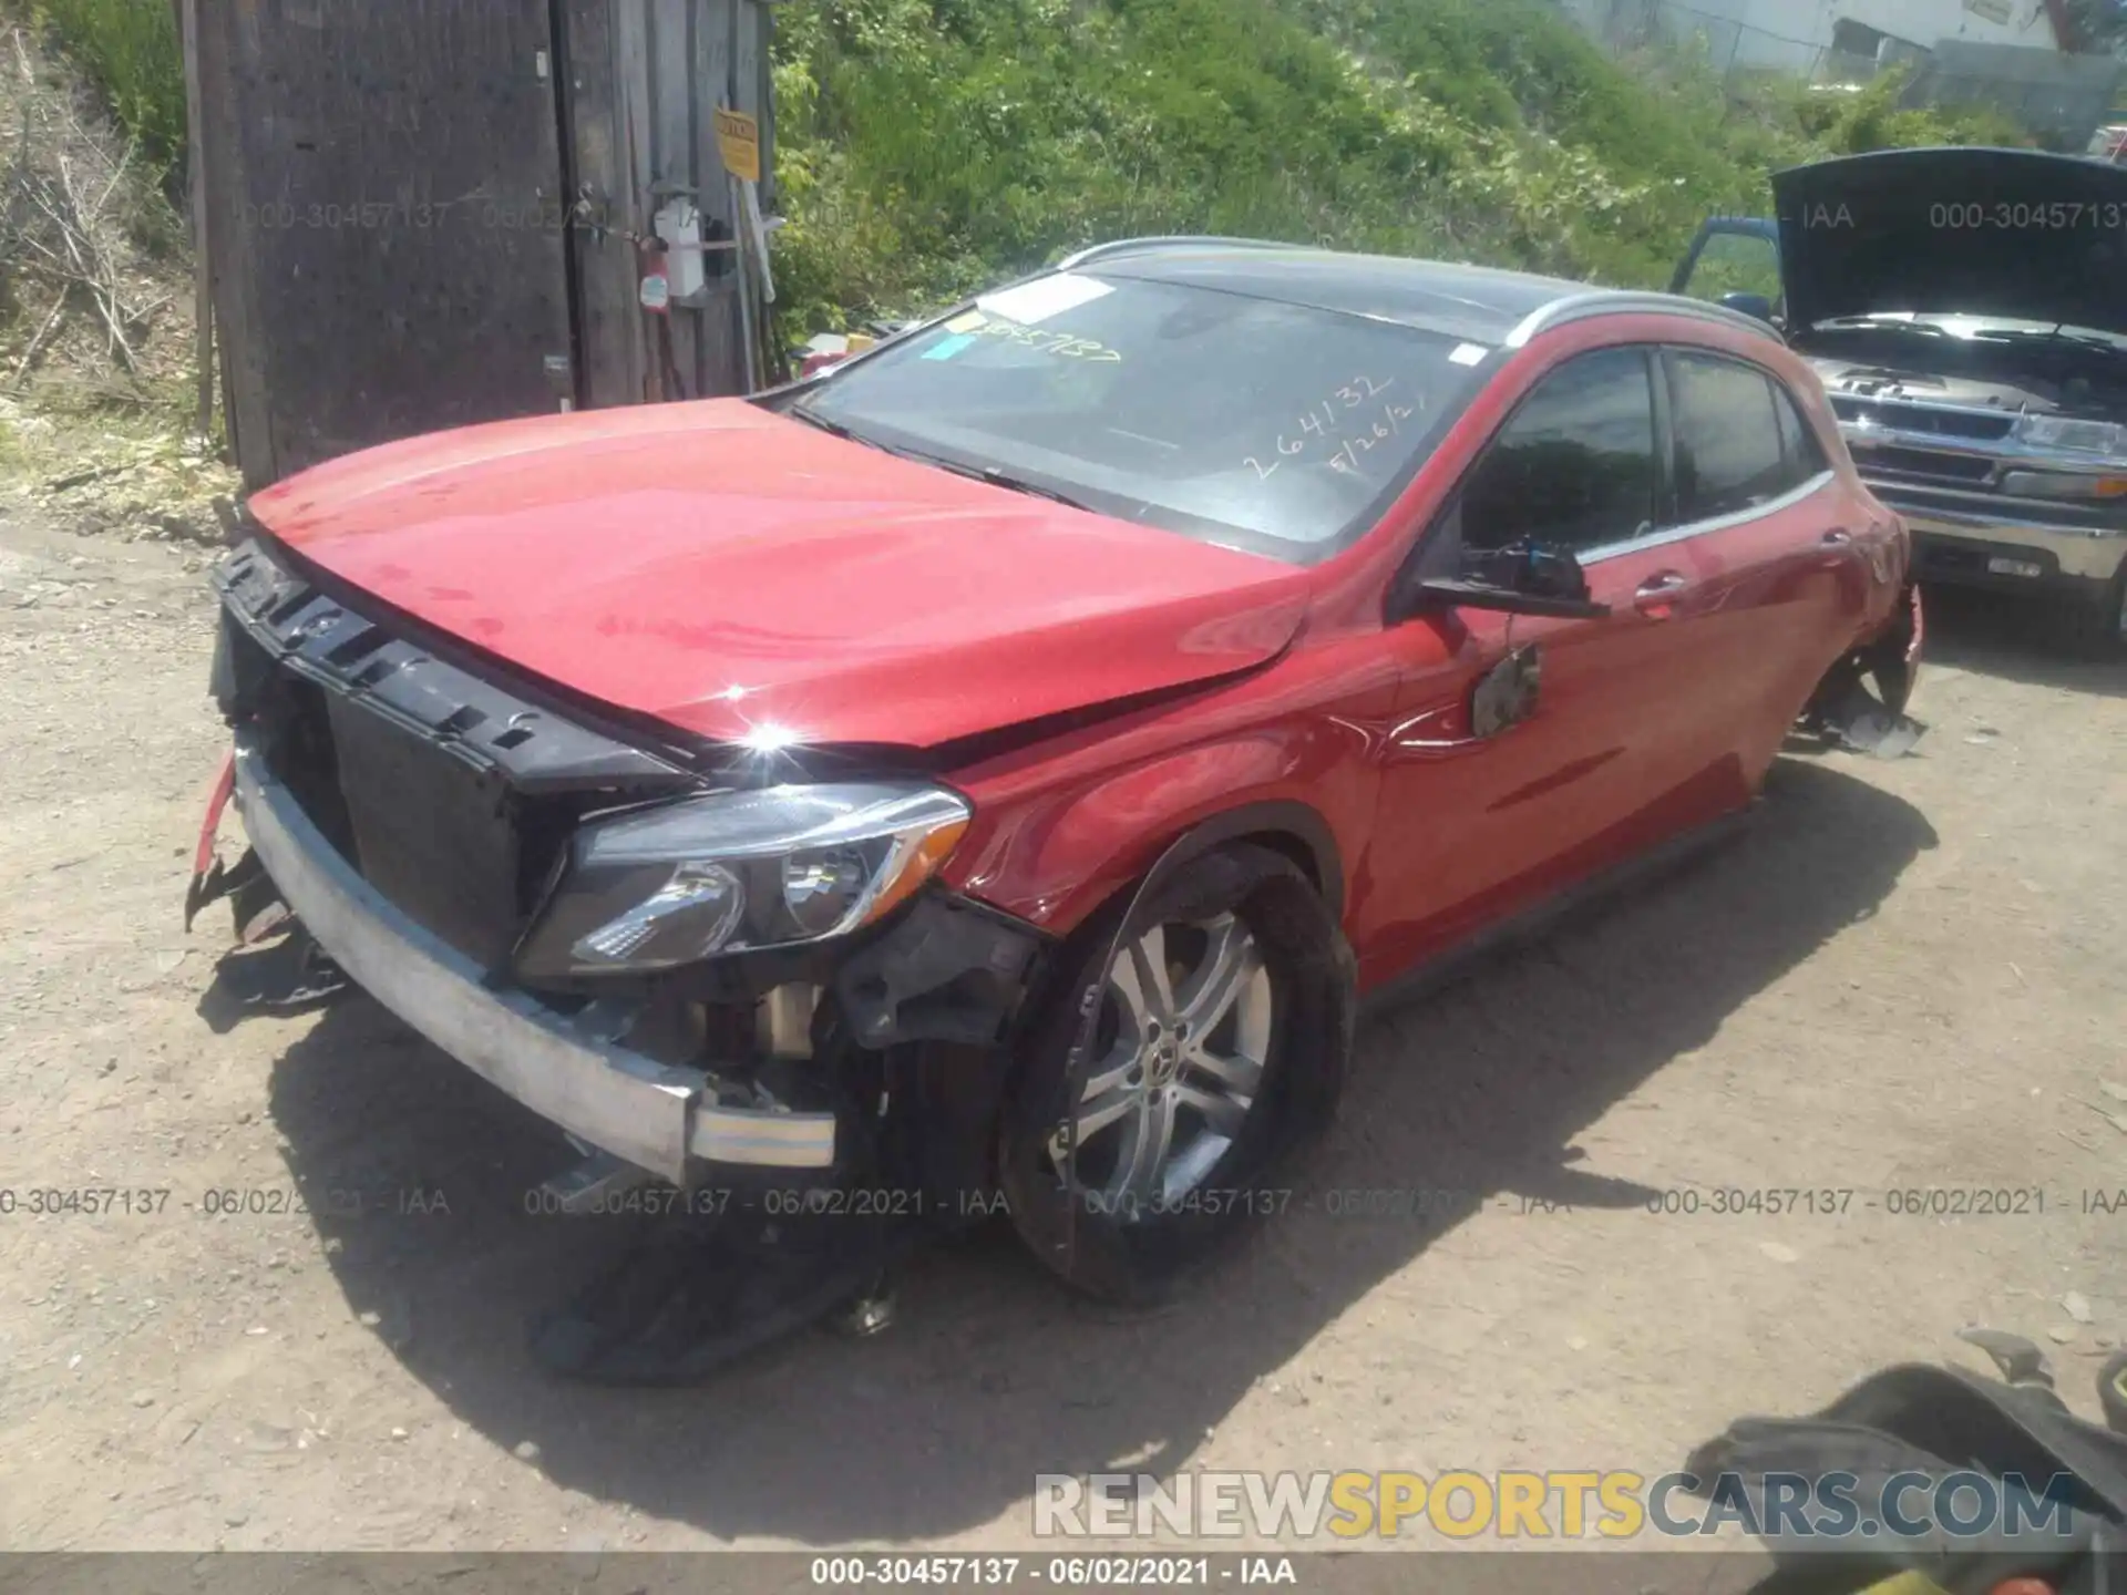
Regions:
<svg viewBox="0 0 2127 1595"><path fill-rule="evenodd" d="M700 300L659 317L630 234L693 189L730 236L713 113L753 113L772 147L761 0L196 15L204 247L251 487L564 402L744 391L736 255L706 255Z"/></svg>

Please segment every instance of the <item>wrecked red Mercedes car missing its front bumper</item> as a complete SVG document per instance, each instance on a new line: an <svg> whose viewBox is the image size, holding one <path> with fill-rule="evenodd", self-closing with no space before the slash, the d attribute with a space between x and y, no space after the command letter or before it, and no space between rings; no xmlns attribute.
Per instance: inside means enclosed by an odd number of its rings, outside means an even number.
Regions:
<svg viewBox="0 0 2127 1595"><path fill-rule="evenodd" d="M1266 1206L1361 997L1919 640L1768 325L1225 240L249 515L194 908L289 910L600 1189L995 1202L1115 1293Z"/></svg>

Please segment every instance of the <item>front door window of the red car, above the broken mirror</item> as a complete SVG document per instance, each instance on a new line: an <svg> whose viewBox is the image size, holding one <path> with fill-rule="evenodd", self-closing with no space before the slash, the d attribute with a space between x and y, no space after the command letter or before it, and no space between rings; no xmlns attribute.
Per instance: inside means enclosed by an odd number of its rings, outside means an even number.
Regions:
<svg viewBox="0 0 2127 1595"><path fill-rule="evenodd" d="M1461 544L1582 551L1655 519L1655 389L1644 349L1597 349L1542 379L1461 496Z"/></svg>

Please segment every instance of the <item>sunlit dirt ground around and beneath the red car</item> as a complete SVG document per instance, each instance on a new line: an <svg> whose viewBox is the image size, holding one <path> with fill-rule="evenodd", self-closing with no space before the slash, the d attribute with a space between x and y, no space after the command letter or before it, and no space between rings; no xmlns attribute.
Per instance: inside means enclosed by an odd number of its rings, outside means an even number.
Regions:
<svg viewBox="0 0 2127 1595"><path fill-rule="evenodd" d="M0 525L0 1544L1023 1544L1036 1472L1659 1472L1974 1321L2091 1408L2127 1333L2127 1208L2084 1212L2127 1187L2127 670L1982 606L1938 606L1916 757L1785 759L1740 842L1370 1027L1293 1210L1178 1308L974 1240L878 1340L655 1395L523 1350L600 1250L523 1212L542 1125L366 1000L206 997L208 619L168 547ZM168 1197L28 1212L77 1187ZM1923 1187L2044 1210L1893 1210ZM1855 1195L1712 1210L1755 1189ZM242 1210L298 1191L353 1195Z"/></svg>

